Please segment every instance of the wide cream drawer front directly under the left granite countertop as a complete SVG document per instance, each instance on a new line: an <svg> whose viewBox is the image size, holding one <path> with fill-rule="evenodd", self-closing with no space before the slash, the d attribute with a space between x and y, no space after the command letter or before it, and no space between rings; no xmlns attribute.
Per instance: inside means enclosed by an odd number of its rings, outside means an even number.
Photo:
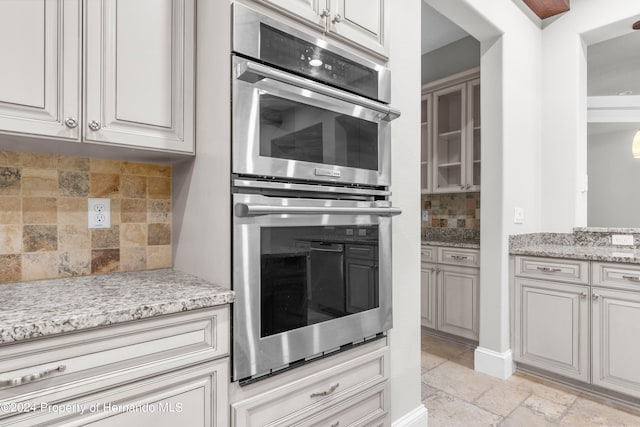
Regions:
<svg viewBox="0 0 640 427"><path fill-rule="evenodd" d="M0 387L0 403L67 400L228 352L227 306L8 344L0 346L0 381L51 372Z"/></svg>

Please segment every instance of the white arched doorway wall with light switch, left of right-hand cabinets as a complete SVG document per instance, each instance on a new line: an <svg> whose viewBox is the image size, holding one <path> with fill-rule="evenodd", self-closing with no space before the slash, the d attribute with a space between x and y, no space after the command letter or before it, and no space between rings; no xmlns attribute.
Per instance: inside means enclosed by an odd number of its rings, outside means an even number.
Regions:
<svg viewBox="0 0 640 427"><path fill-rule="evenodd" d="M508 236L538 231L541 217L540 30L510 0L425 1L481 44L480 349L505 355L495 362L508 370ZM489 365L476 369L502 376Z"/></svg>

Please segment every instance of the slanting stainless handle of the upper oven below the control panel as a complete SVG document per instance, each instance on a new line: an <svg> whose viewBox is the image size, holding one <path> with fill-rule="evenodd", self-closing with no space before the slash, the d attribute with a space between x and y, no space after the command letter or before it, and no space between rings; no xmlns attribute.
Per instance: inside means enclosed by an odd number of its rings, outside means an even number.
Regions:
<svg viewBox="0 0 640 427"><path fill-rule="evenodd" d="M304 79L302 77L292 76L280 70L276 70L262 64L256 64L255 62L245 61L239 63L237 69L237 78L249 83L255 83L258 80L262 80L264 78L271 78L282 83L298 86L303 89L321 93L332 98L340 99L342 101L360 105L378 113L382 113L385 115L383 120L386 120L388 122L400 117L400 111L388 107L384 104L380 104L378 102L371 101L367 98L363 98L357 95L352 95L348 92L343 92L330 86Z"/></svg>

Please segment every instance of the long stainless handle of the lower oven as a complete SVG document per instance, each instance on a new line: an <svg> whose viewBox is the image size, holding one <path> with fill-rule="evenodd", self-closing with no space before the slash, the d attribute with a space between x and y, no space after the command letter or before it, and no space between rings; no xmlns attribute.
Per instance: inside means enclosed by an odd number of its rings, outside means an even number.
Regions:
<svg viewBox="0 0 640 427"><path fill-rule="evenodd" d="M398 208L345 208L345 207L310 207L310 206L269 206L236 203L236 216L248 217L257 215L378 215L396 216L402 213Z"/></svg>

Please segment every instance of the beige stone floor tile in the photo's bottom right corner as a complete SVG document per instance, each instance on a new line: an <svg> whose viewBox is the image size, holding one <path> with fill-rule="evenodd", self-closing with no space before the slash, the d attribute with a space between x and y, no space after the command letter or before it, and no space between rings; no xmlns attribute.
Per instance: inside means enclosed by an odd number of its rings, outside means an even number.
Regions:
<svg viewBox="0 0 640 427"><path fill-rule="evenodd" d="M579 397L560 420L564 426L640 426L640 416Z"/></svg>

